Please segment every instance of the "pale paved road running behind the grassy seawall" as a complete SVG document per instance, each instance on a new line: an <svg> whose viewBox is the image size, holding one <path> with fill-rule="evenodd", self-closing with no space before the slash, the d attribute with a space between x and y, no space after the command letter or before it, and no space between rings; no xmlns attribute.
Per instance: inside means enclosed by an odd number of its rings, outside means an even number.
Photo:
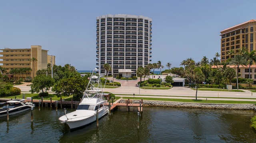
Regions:
<svg viewBox="0 0 256 143"><path fill-rule="evenodd" d="M192 90L187 87L174 87L168 90L153 90L153 89L141 89L136 87L138 81L128 80L123 81L121 87L119 88L105 88L104 91L111 92L116 96L122 97L152 97L154 95L155 98L182 98L182 99L195 99L196 90ZM126 85L126 86L124 86ZM129 86L128 86L129 85ZM28 93L30 90L30 86L26 86L26 84L16 86L21 89L22 93ZM226 92L226 91L199 91L197 92L198 98L200 100L240 100L240 101L255 101L256 102L256 92L250 92L248 90L244 90L246 92ZM50 92L50 91L49 91ZM128 95L120 95L120 94L128 94ZM151 96L147 96L151 95ZM186 97L184 97L186 96ZM210 98L210 97L221 97L221 98ZM233 99L230 99L233 98ZM252 98L252 99L234 99L234 98Z"/></svg>

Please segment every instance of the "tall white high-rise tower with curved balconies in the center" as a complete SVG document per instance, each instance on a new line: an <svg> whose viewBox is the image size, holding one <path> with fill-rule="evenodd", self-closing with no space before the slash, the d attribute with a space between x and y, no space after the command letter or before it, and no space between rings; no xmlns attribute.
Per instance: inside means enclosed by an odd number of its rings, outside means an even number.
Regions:
<svg viewBox="0 0 256 143"><path fill-rule="evenodd" d="M114 77L122 74L120 71L131 71L131 76L136 76L138 67L150 63L151 18L108 14L98 16L96 25L96 61L101 74L107 72L103 67L105 63L112 67L109 73Z"/></svg>

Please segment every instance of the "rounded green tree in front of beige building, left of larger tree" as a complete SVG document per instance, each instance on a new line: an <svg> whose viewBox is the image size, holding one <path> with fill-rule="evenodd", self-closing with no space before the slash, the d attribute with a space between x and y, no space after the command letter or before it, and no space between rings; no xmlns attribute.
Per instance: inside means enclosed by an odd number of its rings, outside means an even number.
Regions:
<svg viewBox="0 0 256 143"><path fill-rule="evenodd" d="M45 74L40 74L36 76L32 80L32 85L31 85L31 93L38 93L42 91L42 93L47 92L47 90L50 90L50 87L54 85L55 80L51 78L51 76L46 76Z"/></svg>

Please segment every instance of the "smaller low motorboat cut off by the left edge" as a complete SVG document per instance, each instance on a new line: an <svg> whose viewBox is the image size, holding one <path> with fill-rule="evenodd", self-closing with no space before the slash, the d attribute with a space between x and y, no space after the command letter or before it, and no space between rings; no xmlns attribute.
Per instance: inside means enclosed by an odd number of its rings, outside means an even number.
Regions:
<svg viewBox="0 0 256 143"><path fill-rule="evenodd" d="M8 100L6 104L0 108L0 117L7 116L7 108L8 108L9 115L14 115L24 111L34 109L35 104L31 102L26 102L26 103L24 102L25 102L24 99Z"/></svg>

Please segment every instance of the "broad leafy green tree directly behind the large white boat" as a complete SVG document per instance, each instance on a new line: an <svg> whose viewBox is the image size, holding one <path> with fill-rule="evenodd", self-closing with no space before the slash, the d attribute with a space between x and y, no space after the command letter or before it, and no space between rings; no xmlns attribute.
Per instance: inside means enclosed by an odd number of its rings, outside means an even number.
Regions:
<svg viewBox="0 0 256 143"><path fill-rule="evenodd" d="M78 72L65 72L65 76L52 87L57 97L73 95L79 101L88 84L87 77L81 77Z"/></svg>

